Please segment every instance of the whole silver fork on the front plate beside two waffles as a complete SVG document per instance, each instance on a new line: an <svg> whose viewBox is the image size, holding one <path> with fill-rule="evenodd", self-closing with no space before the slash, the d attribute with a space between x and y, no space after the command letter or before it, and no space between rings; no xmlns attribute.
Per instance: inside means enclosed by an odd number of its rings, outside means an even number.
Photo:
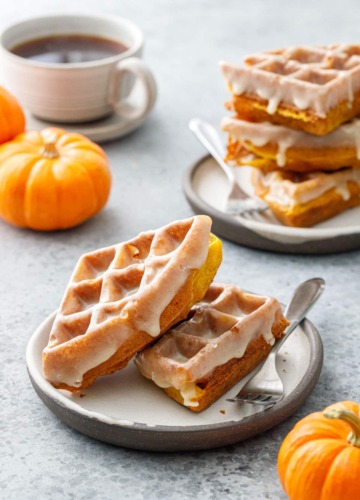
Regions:
<svg viewBox="0 0 360 500"><path fill-rule="evenodd" d="M263 405L265 409L269 409L283 399L284 386L276 370L276 354L291 332L305 318L323 293L324 288L325 281L322 278L304 281L297 287L284 313L290 321L285 334L276 341L257 373L247 381L235 397L227 399L227 401Z"/></svg>

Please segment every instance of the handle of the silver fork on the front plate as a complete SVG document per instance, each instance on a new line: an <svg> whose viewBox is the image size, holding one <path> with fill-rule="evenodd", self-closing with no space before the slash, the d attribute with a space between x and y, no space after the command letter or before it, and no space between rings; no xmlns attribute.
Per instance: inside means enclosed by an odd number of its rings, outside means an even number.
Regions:
<svg viewBox="0 0 360 500"><path fill-rule="evenodd" d="M289 304L285 309L285 318L290 325L285 329L284 335L276 342L273 352L276 354L288 336L306 317L325 289L322 278L312 278L301 283L295 290Z"/></svg>

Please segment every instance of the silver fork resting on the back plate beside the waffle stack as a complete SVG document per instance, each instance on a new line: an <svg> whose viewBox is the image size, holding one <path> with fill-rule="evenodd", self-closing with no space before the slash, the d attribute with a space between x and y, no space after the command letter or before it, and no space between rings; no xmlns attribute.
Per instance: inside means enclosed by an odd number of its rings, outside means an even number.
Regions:
<svg viewBox="0 0 360 500"><path fill-rule="evenodd" d="M231 215L241 215L267 210L269 207L266 203L259 198L249 196L237 183L233 167L224 161L225 149L215 128L200 118L190 120L189 128L217 161L229 181L230 188L225 203L225 212Z"/></svg>

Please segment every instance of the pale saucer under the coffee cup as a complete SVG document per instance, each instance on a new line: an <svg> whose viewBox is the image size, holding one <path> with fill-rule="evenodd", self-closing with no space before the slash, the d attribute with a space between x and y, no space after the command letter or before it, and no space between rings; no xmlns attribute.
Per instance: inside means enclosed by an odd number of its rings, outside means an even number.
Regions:
<svg viewBox="0 0 360 500"><path fill-rule="evenodd" d="M143 88L141 85L136 85L129 97L129 109L136 108L136 103L143 99ZM150 113L151 110L149 110ZM112 141L123 137L130 132L139 128L149 113L141 118L135 120L128 120L119 113L114 112L110 116L101 120L95 120L86 123L55 123L41 120L36 118L28 111L26 112L26 128L27 130L42 130L46 127L59 127L65 129L67 132L76 132L85 135L95 142Z"/></svg>

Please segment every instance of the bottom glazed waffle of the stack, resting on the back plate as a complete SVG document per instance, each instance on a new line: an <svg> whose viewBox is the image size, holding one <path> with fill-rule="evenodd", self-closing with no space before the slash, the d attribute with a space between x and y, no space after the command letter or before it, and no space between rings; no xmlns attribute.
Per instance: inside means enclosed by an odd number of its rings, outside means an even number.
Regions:
<svg viewBox="0 0 360 500"><path fill-rule="evenodd" d="M295 173L254 169L252 183L285 225L310 227L360 205L360 170Z"/></svg>

